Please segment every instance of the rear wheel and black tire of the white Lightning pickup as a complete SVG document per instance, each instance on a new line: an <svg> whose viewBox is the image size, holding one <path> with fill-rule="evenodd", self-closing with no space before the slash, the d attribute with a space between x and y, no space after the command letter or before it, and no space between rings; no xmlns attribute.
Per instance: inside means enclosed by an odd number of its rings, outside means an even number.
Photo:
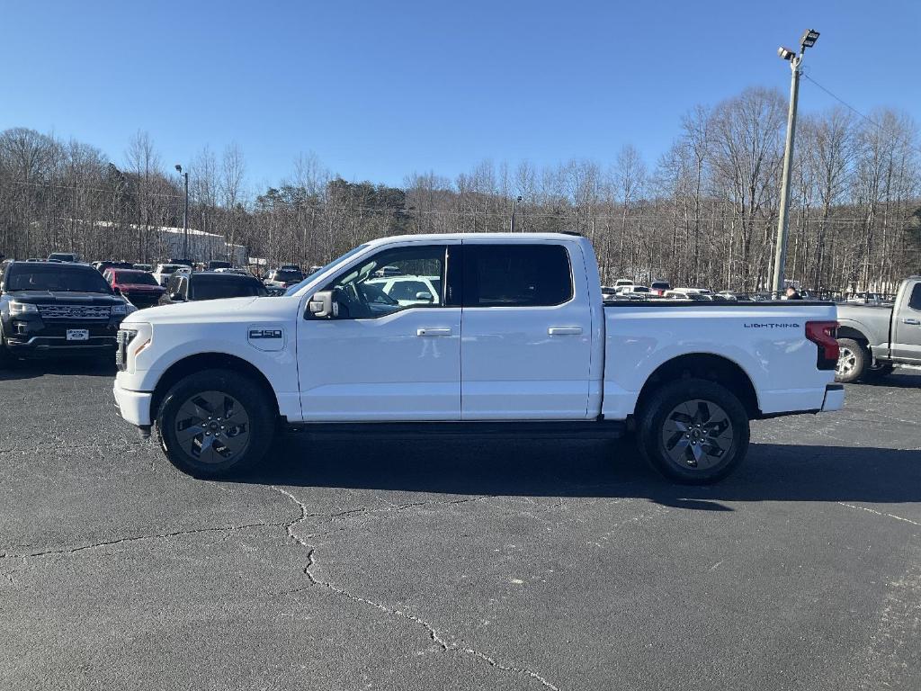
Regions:
<svg viewBox="0 0 921 691"><path fill-rule="evenodd" d="M637 417L640 453L660 474L682 485L712 485L732 473L748 452L749 437L745 406L714 381L665 384Z"/></svg>

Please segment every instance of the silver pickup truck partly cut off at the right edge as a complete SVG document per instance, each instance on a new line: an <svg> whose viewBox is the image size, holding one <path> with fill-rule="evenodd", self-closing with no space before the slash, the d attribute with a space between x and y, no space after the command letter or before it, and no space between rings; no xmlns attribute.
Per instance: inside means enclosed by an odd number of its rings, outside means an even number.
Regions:
<svg viewBox="0 0 921 691"><path fill-rule="evenodd" d="M884 377L921 366L921 276L906 278L893 305L838 305L837 381Z"/></svg>

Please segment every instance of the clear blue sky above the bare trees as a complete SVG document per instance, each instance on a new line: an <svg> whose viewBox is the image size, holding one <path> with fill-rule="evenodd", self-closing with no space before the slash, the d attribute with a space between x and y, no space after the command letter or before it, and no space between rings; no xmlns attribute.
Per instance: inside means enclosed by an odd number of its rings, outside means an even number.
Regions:
<svg viewBox="0 0 921 691"><path fill-rule="evenodd" d="M759 85L822 32L810 76L860 111L921 119L921 2L10 2L0 129L99 146L137 130L171 168L236 142L254 190L313 151L348 180L454 178L484 158L653 164L682 113ZM872 53L880 53L874 58ZM809 81L801 108L834 100Z"/></svg>

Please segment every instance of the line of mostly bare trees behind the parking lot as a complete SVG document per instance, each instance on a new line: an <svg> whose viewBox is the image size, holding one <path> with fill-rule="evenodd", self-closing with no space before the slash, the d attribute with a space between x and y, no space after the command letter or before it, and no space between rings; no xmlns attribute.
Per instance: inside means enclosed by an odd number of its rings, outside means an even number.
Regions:
<svg viewBox="0 0 921 691"><path fill-rule="evenodd" d="M649 163L634 146L612 160L538 168L484 161L449 179L414 173L401 188L347 182L302 155L254 192L243 153L205 147L188 166L189 226L267 264L325 264L383 235L570 230L588 236L602 282L619 277L755 290L770 283L787 100L748 88L688 111ZM801 115L791 188L787 278L803 287L891 292L921 273L921 147L904 113L845 108ZM145 133L120 165L98 148L27 128L0 133L0 252L165 259L184 192ZM126 240L127 239L127 240Z"/></svg>

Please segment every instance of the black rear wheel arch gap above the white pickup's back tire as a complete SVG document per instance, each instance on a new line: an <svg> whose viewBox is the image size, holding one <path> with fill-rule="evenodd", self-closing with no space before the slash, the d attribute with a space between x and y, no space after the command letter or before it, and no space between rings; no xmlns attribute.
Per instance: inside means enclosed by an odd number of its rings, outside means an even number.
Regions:
<svg viewBox="0 0 921 691"><path fill-rule="evenodd" d="M738 362L713 353L688 353L672 357L659 365L649 375L636 398L636 414L643 410L652 394L663 384L691 378L713 381L725 386L739 397L749 417L761 416L758 393L755 391L752 378Z"/></svg>

